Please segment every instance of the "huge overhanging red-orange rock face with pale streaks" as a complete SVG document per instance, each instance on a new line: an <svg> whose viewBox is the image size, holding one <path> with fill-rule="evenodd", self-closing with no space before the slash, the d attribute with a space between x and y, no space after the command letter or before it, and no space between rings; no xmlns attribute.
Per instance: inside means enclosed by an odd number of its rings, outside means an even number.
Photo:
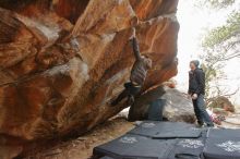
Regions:
<svg viewBox="0 0 240 159"><path fill-rule="evenodd" d="M133 25L154 65L143 91L176 75L177 3L1 1L0 133L27 140L84 133L122 110L109 101L129 80Z"/></svg>

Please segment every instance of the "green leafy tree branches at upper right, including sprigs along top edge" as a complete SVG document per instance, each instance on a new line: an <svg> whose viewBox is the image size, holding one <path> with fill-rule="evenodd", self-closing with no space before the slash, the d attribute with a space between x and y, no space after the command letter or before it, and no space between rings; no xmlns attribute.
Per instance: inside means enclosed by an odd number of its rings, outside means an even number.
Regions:
<svg viewBox="0 0 240 159"><path fill-rule="evenodd" d="M229 9L226 23L206 33L202 47L207 53L216 52L215 61L226 61L232 58L240 58L240 11L237 0L204 0L207 7L215 10ZM238 1L239 2L239 1ZM237 8L236 8L237 7Z"/></svg>

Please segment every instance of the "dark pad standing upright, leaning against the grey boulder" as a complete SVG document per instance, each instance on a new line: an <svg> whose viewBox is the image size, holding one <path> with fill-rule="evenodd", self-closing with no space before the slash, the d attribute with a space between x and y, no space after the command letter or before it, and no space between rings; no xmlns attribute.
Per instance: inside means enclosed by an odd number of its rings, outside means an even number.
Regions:
<svg viewBox="0 0 240 159"><path fill-rule="evenodd" d="M166 99L157 99L151 102L148 108L147 120L163 121L163 110Z"/></svg>

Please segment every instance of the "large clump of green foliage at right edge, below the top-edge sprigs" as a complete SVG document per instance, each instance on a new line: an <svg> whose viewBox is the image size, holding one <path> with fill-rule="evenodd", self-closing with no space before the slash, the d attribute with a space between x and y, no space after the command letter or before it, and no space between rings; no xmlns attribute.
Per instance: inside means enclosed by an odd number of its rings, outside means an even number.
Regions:
<svg viewBox="0 0 240 159"><path fill-rule="evenodd" d="M217 52L213 58L226 61L240 58L240 12L232 12L225 25L209 30L204 40L203 48L208 52Z"/></svg>

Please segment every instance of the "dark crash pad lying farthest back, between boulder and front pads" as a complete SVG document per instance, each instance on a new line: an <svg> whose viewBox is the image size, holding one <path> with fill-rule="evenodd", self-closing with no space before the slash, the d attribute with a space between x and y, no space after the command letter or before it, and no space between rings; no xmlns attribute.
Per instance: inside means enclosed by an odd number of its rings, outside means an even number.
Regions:
<svg viewBox="0 0 240 159"><path fill-rule="evenodd" d="M141 136L147 136L158 139L167 138L197 138L202 133L193 124L183 122L157 122L144 121L139 126L129 132Z"/></svg>

